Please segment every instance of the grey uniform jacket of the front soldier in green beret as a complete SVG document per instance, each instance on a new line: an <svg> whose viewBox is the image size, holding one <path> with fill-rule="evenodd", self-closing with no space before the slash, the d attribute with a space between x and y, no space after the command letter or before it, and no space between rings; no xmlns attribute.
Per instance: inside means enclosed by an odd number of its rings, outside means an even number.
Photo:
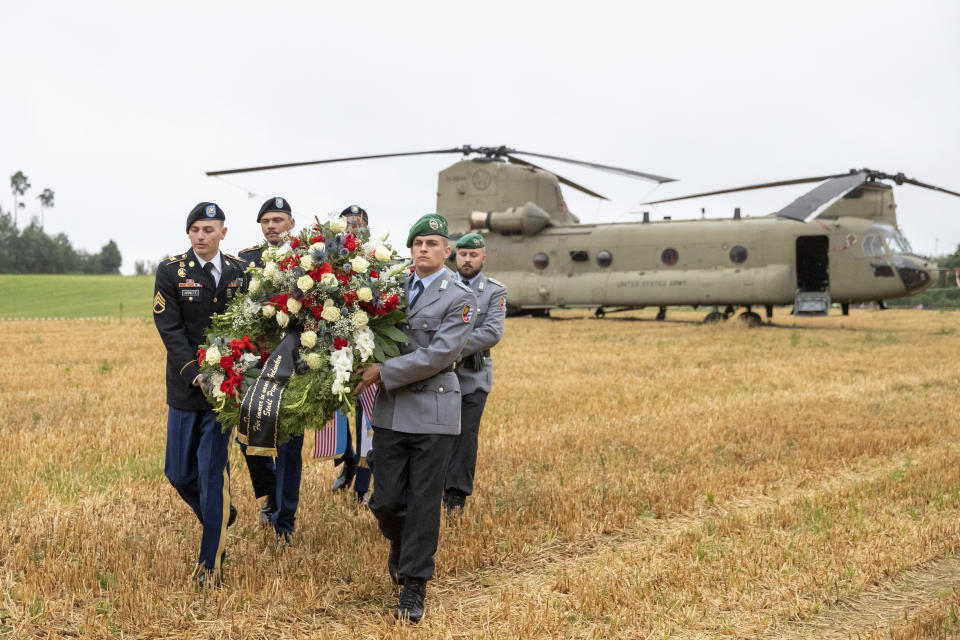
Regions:
<svg viewBox="0 0 960 640"><path fill-rule="evenodd" d="M404 433L460 433L460 384L452 365L476 321L477 297L446 267L407 311L410 342L380 365L373 426Z"/></svg>

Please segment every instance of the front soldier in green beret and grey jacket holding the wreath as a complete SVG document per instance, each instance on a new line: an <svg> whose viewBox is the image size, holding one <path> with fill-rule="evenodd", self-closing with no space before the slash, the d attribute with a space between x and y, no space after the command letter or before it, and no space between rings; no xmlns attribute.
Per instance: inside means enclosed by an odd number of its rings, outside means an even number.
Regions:
<svg viewBox="0 0 960 640"><path fill-rule="evenodd" d="M447 221L423 216L407 246L415 267L406 281L410 342L400 354L364 369L357 387L377 382L373 409L373 497L370 510L390 541L387 567L402 585L393 614L417 622L440 535L443 474L460 433L460 384L453 364L473 328L477 298L443 266L450 255Z"/></svg>

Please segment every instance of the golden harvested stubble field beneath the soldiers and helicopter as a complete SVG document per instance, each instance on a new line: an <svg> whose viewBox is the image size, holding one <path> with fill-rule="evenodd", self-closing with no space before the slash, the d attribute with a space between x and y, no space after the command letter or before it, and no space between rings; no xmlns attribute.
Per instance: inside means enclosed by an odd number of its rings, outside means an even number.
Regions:
<svg viewBox="0 0 960 640"><path fill-rule="evenodd" d="M152 323L0 323L0 635L960 633L960 315L702 315L507 321L416 627L385 615L387 545L329 461L305 460L277 551L234 450L227 586L195 591Z"/></svg>

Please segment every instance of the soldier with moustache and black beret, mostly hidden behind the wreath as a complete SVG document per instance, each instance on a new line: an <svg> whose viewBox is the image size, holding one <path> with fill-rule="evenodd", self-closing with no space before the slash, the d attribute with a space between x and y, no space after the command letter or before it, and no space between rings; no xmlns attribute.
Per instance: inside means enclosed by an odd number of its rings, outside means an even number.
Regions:
<svg viewBox="0 0 960 640"><path fill-rule="evenodd" d="M290 201L280 196L268 198L260 206L257 222L263 232L263 242L247 247L240 257L252 267L263 267L263 252L268 246L283 248L282 234L293 231L296 220ZM253 494L266 498L260 507L260 524L273 524L277 542L290 544L300 503L300 480L303 473L303 436L294 436L277 448L276 459L269 456L247 455L247 446L240 443L240 451L250 470Z"/></svg>

